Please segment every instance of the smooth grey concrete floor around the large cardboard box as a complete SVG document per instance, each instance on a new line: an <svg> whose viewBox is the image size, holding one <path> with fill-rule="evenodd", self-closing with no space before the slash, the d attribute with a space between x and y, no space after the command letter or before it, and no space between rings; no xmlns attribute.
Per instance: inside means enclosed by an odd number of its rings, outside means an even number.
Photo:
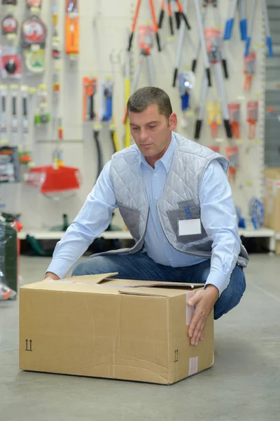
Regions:
<svg viewBox="0 0 280 421"><path fill-rule="evenodd" d="M39 281L48 258L21 260ZM0 302L0 420L279 421L280 258L251 256L247 291L216 322L213 368L172 386L21 372L18 301Z"/></svg>

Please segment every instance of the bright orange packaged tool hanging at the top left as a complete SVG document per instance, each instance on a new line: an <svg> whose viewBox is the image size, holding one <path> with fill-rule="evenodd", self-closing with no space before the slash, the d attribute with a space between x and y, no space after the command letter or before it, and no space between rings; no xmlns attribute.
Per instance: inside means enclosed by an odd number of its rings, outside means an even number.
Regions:
<svg viewBox="0 0 280 421"><path fill-rule="evenodd" d="M65 52L75 60L80 52L78 0L66 0Z"/></svg>

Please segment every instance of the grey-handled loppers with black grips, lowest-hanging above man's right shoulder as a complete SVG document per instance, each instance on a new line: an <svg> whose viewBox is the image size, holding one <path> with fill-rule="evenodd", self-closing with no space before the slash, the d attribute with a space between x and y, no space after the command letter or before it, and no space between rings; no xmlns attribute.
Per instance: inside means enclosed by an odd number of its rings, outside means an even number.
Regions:
<svg viewBox="0 0 280 421"><path fill-rule="evenodd" d="M209 60L214 69L216 86L218 90L218 98L219 98L219 102L221 103L221 112L223 116L225 132L228 138L232 138L232 128L230 126L230 114L228 112L228 103L226 100L225 86L223 83L223 72L222 72L222 67L221 67L221 52L219 49L220 44L218 42L218 38L221 36L221 30L207 29L205 32L208 32L208 31L211 32L212 34L211 44L209 43L209 46L208 46L209 47L208 48ZM200 109L198 112L198 119L195 125L195 139L200 138L200 130L202 128L205 104L207 100L207 91L208 91L207 75L204 74L204 79L202 82L202 92L201 92L201 98L200 98Z"/></svg>

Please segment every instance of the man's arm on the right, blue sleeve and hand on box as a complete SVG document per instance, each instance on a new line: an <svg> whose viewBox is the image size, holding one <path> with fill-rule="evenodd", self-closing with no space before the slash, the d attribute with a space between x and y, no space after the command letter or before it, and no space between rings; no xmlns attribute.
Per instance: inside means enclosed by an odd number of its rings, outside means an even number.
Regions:
<svg viewBox="0 0 280 421"><path fill-rule="evenodd" d="M188 330L192 345L203 339L207 316L230 282L241 247L232 191L218 161L212 161L205 171L200 186L200 207L202 224L213 245L205 290L197 291L188 302L196 306Z"/></svg>

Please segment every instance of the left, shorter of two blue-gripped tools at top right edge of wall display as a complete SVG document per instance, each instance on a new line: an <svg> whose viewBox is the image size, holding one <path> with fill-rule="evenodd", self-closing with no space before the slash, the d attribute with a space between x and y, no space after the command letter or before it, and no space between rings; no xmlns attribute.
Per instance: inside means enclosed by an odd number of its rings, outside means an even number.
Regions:
<svg viewBox="0 0 280 421"><path fill-rule="evenodd" d="M230 0L229 1L229 10L228 10L228 19L225 22L225 32L223 39L230 39L232 36L232 28L235 23L235 13L239 11L239 29L241 41L245 41L247 37L247 19L246 19L246 4L245 0Z"/></svg>

